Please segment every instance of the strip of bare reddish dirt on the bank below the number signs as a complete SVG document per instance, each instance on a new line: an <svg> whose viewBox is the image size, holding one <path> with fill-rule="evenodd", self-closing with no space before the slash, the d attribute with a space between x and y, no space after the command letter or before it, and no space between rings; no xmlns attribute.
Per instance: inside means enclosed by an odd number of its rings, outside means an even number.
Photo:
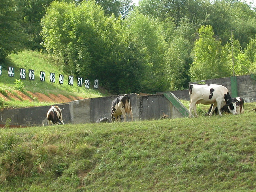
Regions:
<svg viewBox="0 0 256 192"><path fill-rule="evenodd" d="M15 90L15 93L18 95L16 96L15 94L9 92L6 90L6 93L8 94L8 96L10 98L13 98L15 100L29 100L29 101L38 101L38 102L56 102L56 103L65 103L65 102L71 102L71 101L75 101L75 100L81 100L81 99L87 99L87 98L83 98L83 97L74 97L74 96L64 96L62 94L49 94L49 96L39 93L39 92L31 92L28 91L28 94L30 94L33 98L30 98L29 96L25 95L23 92ZM22 100L20 98L22 98ZM4 98L4 100L8 101L10 100L10 98L4 96L3 94L0 93L0 98Z"/></svg>

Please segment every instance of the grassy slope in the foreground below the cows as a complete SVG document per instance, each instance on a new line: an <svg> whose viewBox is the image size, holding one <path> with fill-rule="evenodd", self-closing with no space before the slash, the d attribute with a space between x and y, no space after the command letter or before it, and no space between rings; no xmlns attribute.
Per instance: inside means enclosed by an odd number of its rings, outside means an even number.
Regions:
<svg viewBox="0 0 256 192"><path fill-rule="evenodd" d="M0 130L0 189L255 191L256 119L245 114Z"/></svg>

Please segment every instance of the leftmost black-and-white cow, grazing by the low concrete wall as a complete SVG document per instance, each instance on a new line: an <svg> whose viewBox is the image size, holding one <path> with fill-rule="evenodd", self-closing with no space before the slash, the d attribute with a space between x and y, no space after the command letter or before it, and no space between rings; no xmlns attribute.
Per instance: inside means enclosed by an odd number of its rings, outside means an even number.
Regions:
<svg viewBox="0 0 256 192"><path fill-rule="evenodd" d="M51 106L47 112L47 120L49 125L64 124L60 107Z"/></svg>

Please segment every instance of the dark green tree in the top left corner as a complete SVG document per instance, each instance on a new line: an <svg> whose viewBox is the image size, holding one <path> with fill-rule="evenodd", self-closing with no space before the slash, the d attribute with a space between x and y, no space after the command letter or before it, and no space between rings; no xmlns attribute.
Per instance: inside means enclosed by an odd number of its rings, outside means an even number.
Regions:
<svg viewBox="0 0 256 192"><path fill-rule="evenodd" d="M14 0L0 0L0 62L24 48L25 35L19 24Z"/></svg>

